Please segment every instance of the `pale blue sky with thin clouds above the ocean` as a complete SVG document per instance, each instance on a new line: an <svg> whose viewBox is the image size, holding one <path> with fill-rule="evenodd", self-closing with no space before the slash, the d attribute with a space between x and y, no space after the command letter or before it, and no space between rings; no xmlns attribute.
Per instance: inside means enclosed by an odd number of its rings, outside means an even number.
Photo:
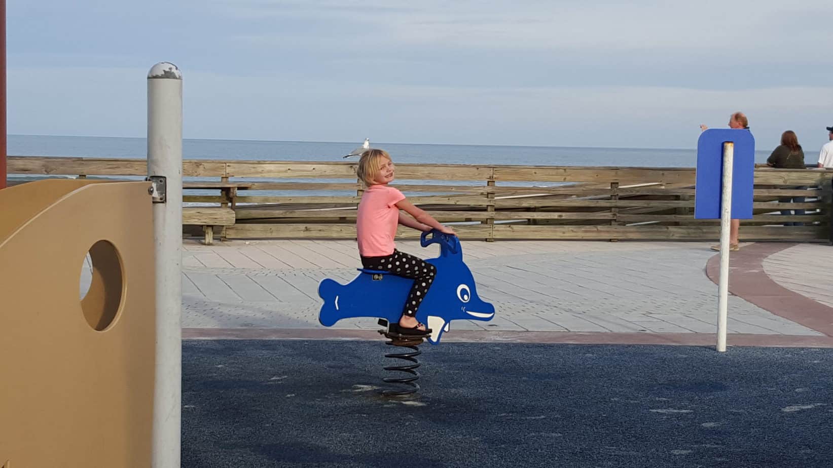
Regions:
<svg viewBox="0 0 833 468"><path fill-rule="evenodd" d="M143 137L147 71L183 136L756 147L833 126L830 0L7 0L8 132Z"/></svg>

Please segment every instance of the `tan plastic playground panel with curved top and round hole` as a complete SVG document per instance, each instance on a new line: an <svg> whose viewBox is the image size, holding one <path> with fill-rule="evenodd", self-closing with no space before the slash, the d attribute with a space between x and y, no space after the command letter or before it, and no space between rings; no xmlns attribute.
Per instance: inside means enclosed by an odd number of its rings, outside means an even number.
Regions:
<svg viewBox="0 0 833 468"><path fill-rule="evenodd" d="M0 190L0 467L150 466L148 182ZM83 300L85 256L92 283Z"/></svg>

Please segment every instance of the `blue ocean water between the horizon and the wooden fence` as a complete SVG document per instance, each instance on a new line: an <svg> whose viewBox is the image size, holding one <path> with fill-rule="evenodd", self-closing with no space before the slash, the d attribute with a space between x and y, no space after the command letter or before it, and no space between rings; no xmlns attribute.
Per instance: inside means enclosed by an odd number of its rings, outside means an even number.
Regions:
<svg viewBox="0 0 833 468"><path fill-rule="evenodd" d="M184 140L185 159L254 159L265 161L345 161L342 156L361 142L267 142L253 140ZM9 135L12 156L130 157L144 159L145 138L53 137ZM696 149L511 147L373 142L394 162L451 164L523 164L531 166L694 167ZM771 149L756 152L766 162Z"/></svg>

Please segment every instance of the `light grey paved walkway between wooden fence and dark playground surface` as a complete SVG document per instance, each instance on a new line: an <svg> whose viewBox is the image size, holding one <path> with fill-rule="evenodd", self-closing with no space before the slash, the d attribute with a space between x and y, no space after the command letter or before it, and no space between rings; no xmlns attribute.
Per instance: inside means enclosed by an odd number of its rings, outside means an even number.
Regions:
<svg viewBox="0 0 833 468"><path fill-rule="evenodd" d="M532 340L560 336L571 341L568 338L578 334L595 336L590 342L655 342L649 336L688 344L709 341L716 328L717 288L706 275L706 263L715 257L708 245L464 241L466 263L478 292L495 304L497 314L487 322L453 322L446 340L466 336L515 340L521 332L537 331L543 334ZM436 256L437 251L436 246L422 248L416 241L398 246L419 256ZM731 296L729 332L751 344L789 344L792 341L784 339L789 336L798 340L796 344L833 346L827 340L833 328L823 326L833 326L833 313L824 316L825 311L833 312L826 276L833 247L747 244L732 254L733 284L748 276L734 266L744 256L755 256L755 246L769 246L775 253L758 258L764 272L754 273L783 286L787 296L780 296L775 306L756 305L743 294ZM312 330L322 336L351 337L364 335L348 331L379 328L374 319L343 320L333 327L336 331L317 322L318 282L325 277L347 282L357 275L354 241L227 241L214 246L186 241L182 261L182 326L187 337L269 336L264 330L276 336L313 336L307 332ZM816 321L785 313L792 308L791 298L818 306ZM822 326L817 326L819 320ZM772 341L777 336L781 340Z"/></svg>

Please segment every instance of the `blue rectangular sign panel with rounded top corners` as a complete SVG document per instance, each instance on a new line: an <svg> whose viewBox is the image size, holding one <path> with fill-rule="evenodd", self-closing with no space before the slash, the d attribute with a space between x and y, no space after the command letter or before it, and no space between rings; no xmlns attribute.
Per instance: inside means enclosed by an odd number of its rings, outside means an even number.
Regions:
<svg viewBox="0 0 833 468"><path fill-rule="evenodd" d="M735 143L732 165L731 218L752 217L755 182L755 137L742 128L710 128L697 140L697 178L694 198L695 219L721 218L723 185L723 143Z"/></svg>

